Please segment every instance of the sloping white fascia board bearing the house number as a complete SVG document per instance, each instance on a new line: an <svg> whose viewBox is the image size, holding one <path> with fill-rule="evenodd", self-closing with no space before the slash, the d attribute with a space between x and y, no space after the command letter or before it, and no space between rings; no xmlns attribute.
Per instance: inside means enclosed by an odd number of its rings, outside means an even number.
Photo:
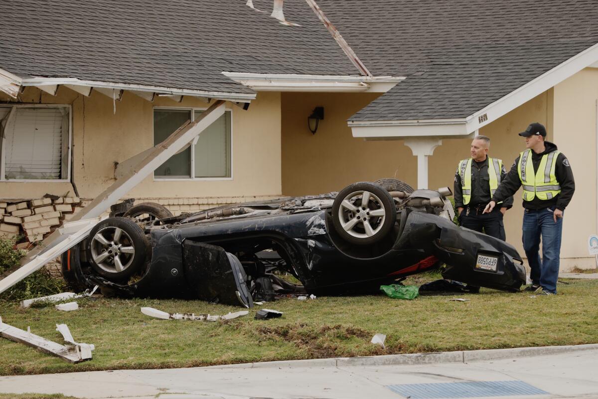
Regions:
<svg viewBox="0 0 598 399"><path fill-rule="evenodd" d="M507 112L512 111L532 98L541 95L551 87L575 75L577 72L592 65L598 65L598 44L587 48L581 53L555 66L548 72L524 84L508 95L496 100L467 117L467 130L473 132L492 123Z"/></svg>

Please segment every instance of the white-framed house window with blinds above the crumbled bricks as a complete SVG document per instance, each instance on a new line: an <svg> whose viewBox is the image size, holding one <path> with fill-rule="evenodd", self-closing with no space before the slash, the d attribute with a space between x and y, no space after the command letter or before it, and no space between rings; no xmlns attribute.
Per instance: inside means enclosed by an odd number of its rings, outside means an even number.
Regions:
<svg viewBox="0 0 598 399"><path fill-rule="evenodd" d="M70 107L0 105L0 180L69 179Z"/></svg>

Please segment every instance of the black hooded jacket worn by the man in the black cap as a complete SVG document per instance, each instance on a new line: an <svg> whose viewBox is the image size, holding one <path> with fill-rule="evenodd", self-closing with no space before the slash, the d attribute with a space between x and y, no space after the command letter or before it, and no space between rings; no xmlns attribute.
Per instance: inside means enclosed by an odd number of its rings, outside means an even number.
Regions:
<svg viewBox="0 0 598 399"><path fill-rule="evenodd" d="M541 154L536 154L534 151L532 151L534 173L538 171L538 166L540 165L542 156L557 150L557 146L550 141L545 141L544 146L546 149ZM496 189L494 197L492 198L496 202L502 201L505 197L512 196L515 194L515 192L517 192L519 187L521 187L521 179L519 178L519 173L517 170L519 158L520 157L517 157L517 159L515 159L515 162L513 165L511 165L511 170L509 170L509 173L507 173L507 177L502 180L501 184ZM554 174L556 175L557 181L561 186L561 192L549 200L541 200L538 197L534 197L534 199L531 201L524 200L523 208L544 209L548 208L549 206L556 206L557 209L565 211L565 208L567 208L567 205L569 205L569 202L573 197L573 192L575 191L575 180L573 179L573 171L569 165L569 160L562 153L557 157L557 164Z"/></svg>

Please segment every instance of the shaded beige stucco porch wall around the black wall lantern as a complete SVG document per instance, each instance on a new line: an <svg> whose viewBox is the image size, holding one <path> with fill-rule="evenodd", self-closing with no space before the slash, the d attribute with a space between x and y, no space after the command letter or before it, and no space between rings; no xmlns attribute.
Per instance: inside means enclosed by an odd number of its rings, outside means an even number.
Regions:
<svg viewBox="0 0 598 399"><path fill-rule="evenodd" d="M373 93L282 94L282 193L338 191L356 181L398 176L414 184L415 157L402 141L353 138L347 118L377 98ZM324 120L312 135L307 117L324 106Z"/></svg>

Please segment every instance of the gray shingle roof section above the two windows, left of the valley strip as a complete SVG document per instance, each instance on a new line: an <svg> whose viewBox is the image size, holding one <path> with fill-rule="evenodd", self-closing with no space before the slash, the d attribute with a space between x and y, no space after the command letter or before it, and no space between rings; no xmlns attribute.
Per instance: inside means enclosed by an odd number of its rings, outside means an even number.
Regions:
<svg viewBox="0 0 598 399"><path fill-rule="evenodd" d="M221 74L358 74L302 0L285 14L245 0L13 0L0 13L0 68L178 89L252 93Z"/></svg>

